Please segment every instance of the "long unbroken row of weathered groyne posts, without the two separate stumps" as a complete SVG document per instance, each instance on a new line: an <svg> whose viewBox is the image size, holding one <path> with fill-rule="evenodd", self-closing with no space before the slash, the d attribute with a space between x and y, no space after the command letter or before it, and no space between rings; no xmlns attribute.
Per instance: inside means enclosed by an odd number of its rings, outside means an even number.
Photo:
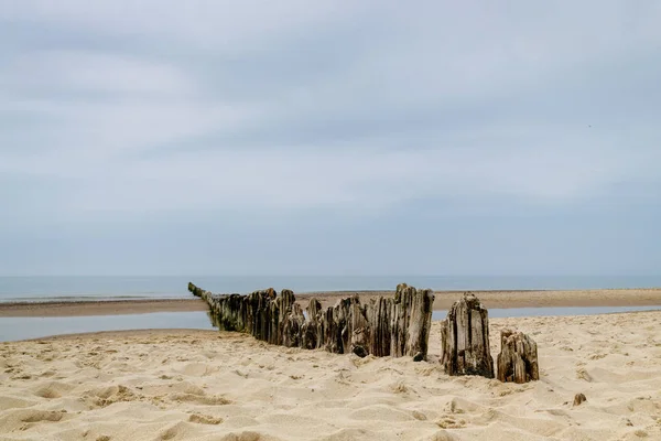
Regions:
<svg viewBox="0 0 661 441"><path fill-rule="evenodd" d="M362 304L354 295L325 310L316 299L310 299L305 313L286 289L280 295L272 288L247 295L218 295L188 283L188 291L209 305L219 329L245 332L271 344L361 357L426 359L434 303L429 289L401 283L392 298Z"/></svg>

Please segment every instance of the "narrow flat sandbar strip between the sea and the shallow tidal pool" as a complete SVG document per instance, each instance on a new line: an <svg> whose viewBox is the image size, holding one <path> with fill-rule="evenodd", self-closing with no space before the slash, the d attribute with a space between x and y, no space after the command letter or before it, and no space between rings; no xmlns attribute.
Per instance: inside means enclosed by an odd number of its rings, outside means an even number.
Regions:
<svg viewBox="0 0 661 441"><path fill-rule="evenodd" d="M462 297L463 291L436 291L434 310L447 310ZM602 289L565 291L474 291L486 308L540 306L652 306L661 305L661 288ZM344 297L358 293L362 301L377 295L393 295L393 291L336 291L296 294L305 308L311 297L324 308ZM7 316L82 316L112 314L143 314L148 312L206 311L201 299L76 301L76 302L14 302L0 303L0 318Z"/></svg>

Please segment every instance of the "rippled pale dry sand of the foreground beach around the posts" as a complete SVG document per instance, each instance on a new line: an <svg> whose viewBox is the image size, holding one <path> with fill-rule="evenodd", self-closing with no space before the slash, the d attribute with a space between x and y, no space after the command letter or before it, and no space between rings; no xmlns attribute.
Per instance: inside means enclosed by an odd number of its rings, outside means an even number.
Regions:
<svg viewBox="0 0 661 441"><path fill-rule="evenodd" d="M661 440L661 312L491 320L539 344L541 380L448 377L214 331L0 344L0 440ZM574 395L587 401L573 407Z"/></svg>

